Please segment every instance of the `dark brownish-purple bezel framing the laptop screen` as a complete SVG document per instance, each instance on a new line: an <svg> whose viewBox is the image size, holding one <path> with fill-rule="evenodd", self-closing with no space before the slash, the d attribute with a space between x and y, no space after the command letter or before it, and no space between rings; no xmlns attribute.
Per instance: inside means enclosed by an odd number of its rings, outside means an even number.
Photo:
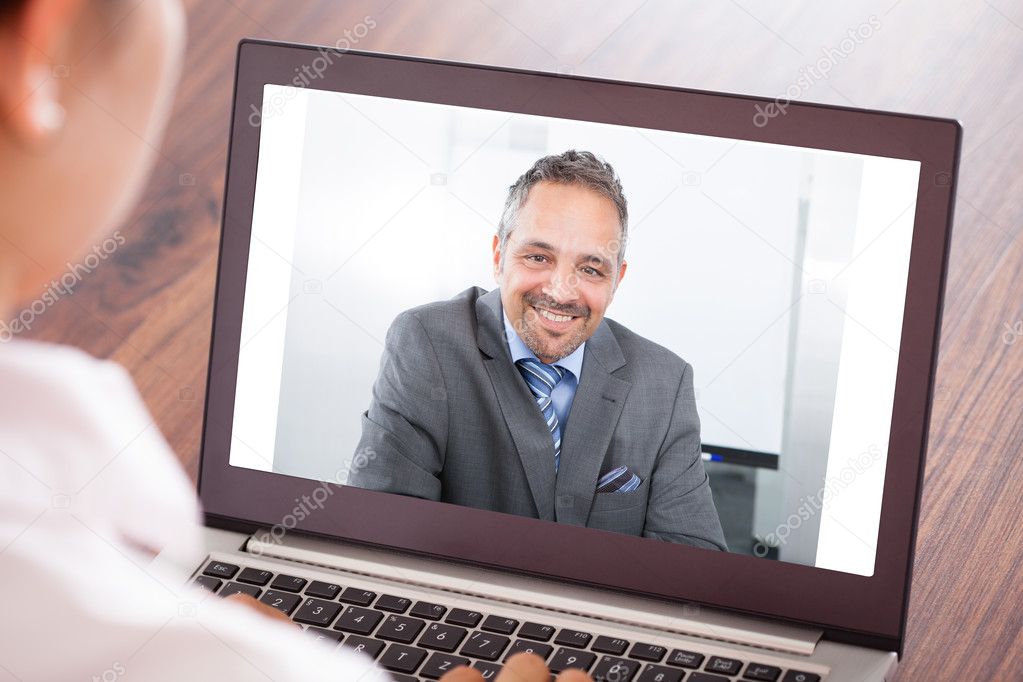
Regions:
<svg viewBox="0 0 1023 682"><path fill-rule="evenodd" d="M900 650L920 508L930 403L951 234L962 128L958 122L790 102L769 125L726 93L540 74L358 51L332 54L309 87L458 106L578 119L921 163L905 315L873 576L858 576L231 466L242 301L265 84L295 75L325 48L246 40L238 46L199 494L213 526L279 525L324 486L323 509L291 532L810 624L830 635ZM255 108L254 108L255 107ZM339 160L339 163L346 163Z"/></svg>

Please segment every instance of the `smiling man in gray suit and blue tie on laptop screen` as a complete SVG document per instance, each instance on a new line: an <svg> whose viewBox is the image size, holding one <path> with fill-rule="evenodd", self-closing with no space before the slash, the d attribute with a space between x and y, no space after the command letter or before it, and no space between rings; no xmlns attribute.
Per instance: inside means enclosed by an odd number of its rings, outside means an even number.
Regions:
<svg viewBox="0 0 1023 682"><path fill-rule="evenodd" d="M610 164L540 158L493 239L498 288L400 314L349 484L725 549L693 369L605 318L628 214ZM440 264L443 267L443 264ZM670 292L664 315L675 315Z"/></svg>

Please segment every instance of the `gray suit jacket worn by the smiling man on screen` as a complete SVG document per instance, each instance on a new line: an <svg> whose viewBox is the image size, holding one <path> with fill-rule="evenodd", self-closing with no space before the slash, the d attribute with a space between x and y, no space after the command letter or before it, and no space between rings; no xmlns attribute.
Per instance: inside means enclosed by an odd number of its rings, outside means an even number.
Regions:
<svg viewBox="0 0 1023 682"><path fill-rule="evenodd" d="M724 549L700 449L693 369L605 318L586 342L561 466L511 362L500 290L405 311L388 330L349 485ZM625 464L642 480L596 493Z"/></svg>

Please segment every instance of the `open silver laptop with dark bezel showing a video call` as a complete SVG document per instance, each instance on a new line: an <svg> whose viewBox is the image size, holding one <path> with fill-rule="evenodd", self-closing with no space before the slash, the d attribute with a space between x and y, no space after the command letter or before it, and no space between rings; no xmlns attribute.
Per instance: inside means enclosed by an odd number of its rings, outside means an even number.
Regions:
<svg viewBox="0 0 1023 682"><path fill-rule="evenodd" d="M396 680L891 679L960 124L339 48L238 47L192 580Z"/></svg>

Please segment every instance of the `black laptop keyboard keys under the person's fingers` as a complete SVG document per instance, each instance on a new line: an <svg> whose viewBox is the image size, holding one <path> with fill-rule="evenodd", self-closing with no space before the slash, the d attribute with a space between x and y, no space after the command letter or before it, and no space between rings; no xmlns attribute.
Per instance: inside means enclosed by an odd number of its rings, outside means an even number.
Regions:
<svg viewBox="0 0 1023 682"><path fill-rule="evenodd" d="M259 599L287 615L310 636L369 655L398 682L437 680L458 666L472 666L490 680L502 663L519 651L539 655L551 673L578 668L597 682L820 680L813 673L753 661L520 622L500 613L377 594L354 585L225 561L210 561L194 581L220 596L240 592Z"/></svg>

